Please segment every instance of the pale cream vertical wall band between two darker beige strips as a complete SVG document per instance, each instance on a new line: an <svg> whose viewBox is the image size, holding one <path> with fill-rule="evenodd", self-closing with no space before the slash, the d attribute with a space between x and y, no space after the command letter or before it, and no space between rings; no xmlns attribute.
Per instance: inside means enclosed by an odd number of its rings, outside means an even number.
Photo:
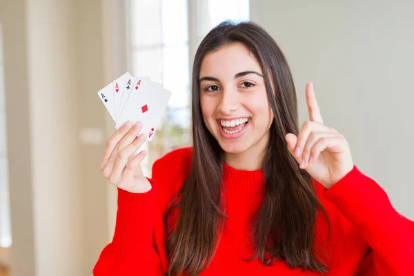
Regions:
<svg viewBox="0 0 414 276"><path fill-rule="evenodd" d="M80 274L75 5L53 0L27 3L36 271Z"/></svg>

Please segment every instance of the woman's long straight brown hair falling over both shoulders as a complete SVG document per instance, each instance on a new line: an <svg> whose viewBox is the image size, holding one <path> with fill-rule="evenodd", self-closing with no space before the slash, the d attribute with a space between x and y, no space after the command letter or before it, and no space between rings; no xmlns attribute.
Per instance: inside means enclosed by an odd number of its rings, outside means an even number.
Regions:
<svg viewBox="0 0 414 276"><path fill-rule="evenodd" d="M326 272L315 250L317 211L324 210L313 181L288 152L285 135L298 133L297 98L290 68L277 43L254 23L221 23L201 41L193 66L193 159L190 173L164 214L168 233L168 275L197 275L210 264L224 226L221 181L224 152L201 115L199 72L204 57L222 46L240 42L252 53L264 73L274 120L263 161L264 201L252 218L253 258L264 265L286 260L288 266ZM177 208L175 229L167 219Z"/></svg>

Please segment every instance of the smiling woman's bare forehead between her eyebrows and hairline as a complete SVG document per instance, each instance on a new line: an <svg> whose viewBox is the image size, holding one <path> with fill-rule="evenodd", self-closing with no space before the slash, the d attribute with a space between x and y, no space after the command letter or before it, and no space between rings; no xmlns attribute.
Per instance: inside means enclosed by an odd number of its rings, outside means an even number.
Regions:
<svg viewBox="0 0 414 276"><path fill-rule="evenodd" d="M204 57L199 77L231 77L233 79L237 73L249 70L263 73L259 62L243 43L231 43Z"/></svg>

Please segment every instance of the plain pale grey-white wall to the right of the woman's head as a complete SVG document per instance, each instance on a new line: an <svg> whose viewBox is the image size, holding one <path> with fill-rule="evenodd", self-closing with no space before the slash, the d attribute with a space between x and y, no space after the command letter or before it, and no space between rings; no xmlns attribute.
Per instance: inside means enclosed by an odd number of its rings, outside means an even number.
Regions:
<svg viewBox="0 0 414 276"><path fill-rule="evenodd" d="M414 219L414 2L252 0L250 10L290 62L302 121L313 81L325 124Z"/></svg>

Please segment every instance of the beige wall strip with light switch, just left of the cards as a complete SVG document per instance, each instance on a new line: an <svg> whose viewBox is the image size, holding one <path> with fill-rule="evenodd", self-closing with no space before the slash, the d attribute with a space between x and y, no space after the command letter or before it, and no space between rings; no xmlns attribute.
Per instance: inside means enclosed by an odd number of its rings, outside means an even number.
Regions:
<svg viewBox="0 0 414 276"><path fill-rule="evenodd" d="M106 142L106 109L97 97L97 91L113 77L106 78L105 32L111 28L110 18L103 14L105 2L77 0L76 7L76 79L77 119L79 128L79 172L81 182L82 275L92 275L99 253L108 244L108 188L99 169L99 161ZM106 22L108 21L108 22ZM112 32L110 32L112 34ZM110 66L109 66L110 67ZM112 77L112 78L111 78Z"/></svg>

